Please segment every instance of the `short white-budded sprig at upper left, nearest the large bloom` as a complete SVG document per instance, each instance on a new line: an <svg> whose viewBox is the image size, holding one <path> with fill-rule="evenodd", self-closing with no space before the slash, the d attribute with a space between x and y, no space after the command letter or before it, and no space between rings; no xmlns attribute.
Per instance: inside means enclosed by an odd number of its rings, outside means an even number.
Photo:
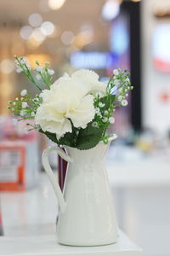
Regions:
<svg viewBox="0 0 170 256"><path fill-rule="evenodd" d="M37 67L34 68L34 70L37 72L36 78L39 81L42 81L48 88L52 84L52 76L54 75L54 70L48 68L49 62L45 62L45 67L41 67L39 62L36 61Z"/></svg>

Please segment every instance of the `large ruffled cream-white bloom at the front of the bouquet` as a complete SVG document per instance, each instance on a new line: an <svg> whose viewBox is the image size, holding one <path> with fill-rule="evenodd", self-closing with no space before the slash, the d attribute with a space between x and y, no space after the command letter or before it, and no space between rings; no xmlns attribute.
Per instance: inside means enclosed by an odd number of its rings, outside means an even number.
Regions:
<svg viewBox="0 0 170 256"><path fill-rule="evenodd" d="M87 95L88 87L81 80L64 76L58 79L50 90L43 90L42 104L37 108L35 120L42 131L49 131L62 137L75 127L86 128L94 119L94 96ZM71 120L70 120L71 119Z"/></svg>

